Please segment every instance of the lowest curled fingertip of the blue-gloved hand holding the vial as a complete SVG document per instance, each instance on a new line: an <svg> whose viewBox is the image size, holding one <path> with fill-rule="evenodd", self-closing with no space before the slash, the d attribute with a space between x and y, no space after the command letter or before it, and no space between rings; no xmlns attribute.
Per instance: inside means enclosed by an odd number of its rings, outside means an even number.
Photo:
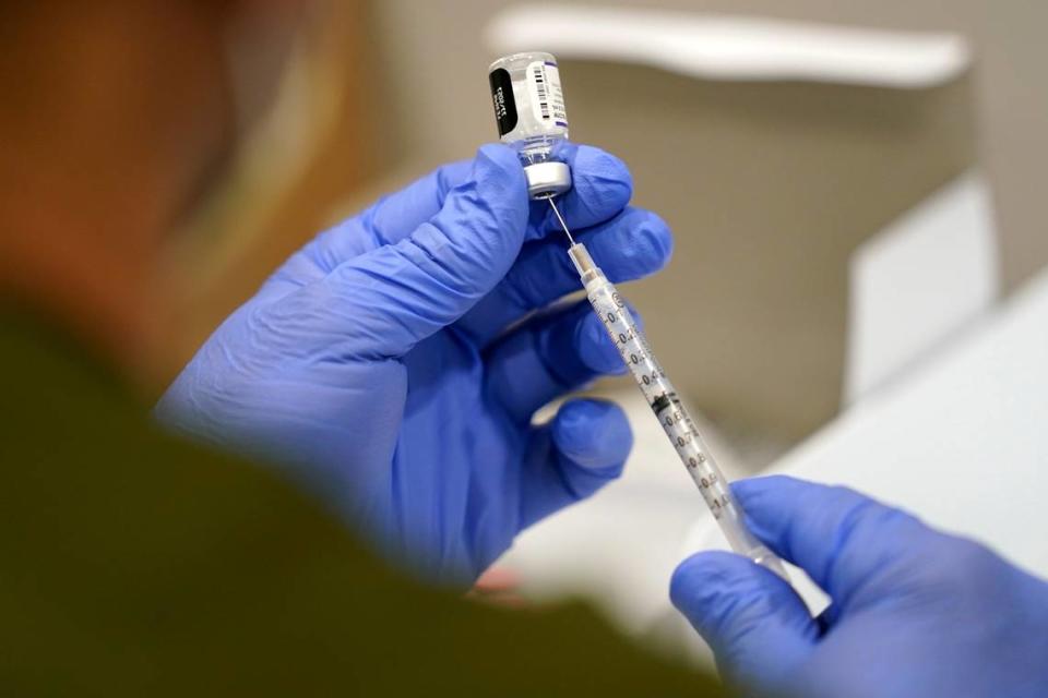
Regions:
<svg viewBox="0 0 1048 698"><path fill-rule="evenodd" d="M633 446L626 413L605 400L565 402L553 420L552 437L563 456L587 469L621 470Z"/></svg>

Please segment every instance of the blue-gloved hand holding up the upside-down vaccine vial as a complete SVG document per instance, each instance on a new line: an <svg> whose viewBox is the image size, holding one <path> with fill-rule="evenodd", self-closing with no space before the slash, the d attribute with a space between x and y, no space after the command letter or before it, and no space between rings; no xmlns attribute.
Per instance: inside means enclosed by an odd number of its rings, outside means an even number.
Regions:
<svg viewBox="0 0 1048 698"><path fill-rule="evenodd" d="M574 189L560 206L605 272L660 268L669 231L627 206L622 163L586 146L561 155ZM528 201L515 153L485 146L293 256L158 414L293 464L386 550L472 581L523 528L616 478L631 446L621 410L596 400L531 425L553 398L621 371L584 301L528 317L581 288L557 230L548 204Z"/></svg>

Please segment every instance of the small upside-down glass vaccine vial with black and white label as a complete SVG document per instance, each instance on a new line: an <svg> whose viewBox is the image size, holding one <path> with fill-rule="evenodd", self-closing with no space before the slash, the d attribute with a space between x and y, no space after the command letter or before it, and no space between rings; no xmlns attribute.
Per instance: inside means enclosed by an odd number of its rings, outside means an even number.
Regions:
<svg viewBox="0 0 1048 698"><path fill-rule="evenodd" d="M556 158L557 144L568 140L557 59L540 51L507 56L491 63L488 82L499 137L520 154L532 198L571 189L571 168Z"/></svg>

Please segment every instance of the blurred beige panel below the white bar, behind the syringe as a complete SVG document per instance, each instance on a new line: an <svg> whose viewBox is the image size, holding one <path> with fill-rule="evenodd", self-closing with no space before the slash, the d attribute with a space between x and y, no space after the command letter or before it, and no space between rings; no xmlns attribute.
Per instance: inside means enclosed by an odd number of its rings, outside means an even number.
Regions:
<svg viewBox="0 0 1048 698"><path fill-rule="evenodd" d="M676 233L628 293L678 388L795 438L837 410L855 248L970 166L968 84L922 92L690 81L571 63L572 119ZM623 96L629 95L629 99Z"/></svg>

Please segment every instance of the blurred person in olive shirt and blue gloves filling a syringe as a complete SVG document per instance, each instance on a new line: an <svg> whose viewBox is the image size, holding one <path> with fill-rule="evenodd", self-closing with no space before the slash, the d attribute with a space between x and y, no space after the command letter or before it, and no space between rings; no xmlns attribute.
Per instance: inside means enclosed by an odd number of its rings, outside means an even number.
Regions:
<svg viewBox="0 0 1048 698"><path fill-rule="evenodd" d="M281 46L300 11L0 9L0 694L719 695L584 607L460 599L630 448L607 402L531 425L618 365L585 306L548 310L576 281L511 151L485 146L322 233L155 414L136 397L165 316L157 257L236 132L230 37ZM616 280L657 270L670 236L629 205L624 166L568 155L564 212L599 264ZM1048 693L1043 581L855 492L772 478L736 493L833 605L812 618L730 554L684 562L674 602L731 684Z"/></svg>

